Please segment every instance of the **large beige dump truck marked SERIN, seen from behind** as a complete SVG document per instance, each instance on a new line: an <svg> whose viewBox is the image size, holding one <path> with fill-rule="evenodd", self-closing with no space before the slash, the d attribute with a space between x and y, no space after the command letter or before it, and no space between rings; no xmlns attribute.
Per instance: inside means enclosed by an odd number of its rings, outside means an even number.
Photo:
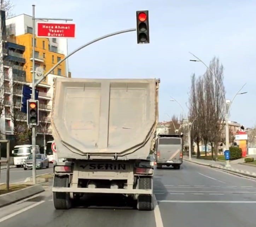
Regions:
<svg viewBox="0 0 256 227"><path fill-rule="evenodd" d="M53 204L69 209L88 194L122 194L152 210L160 79L56 78L52 134Z"/></svg>

